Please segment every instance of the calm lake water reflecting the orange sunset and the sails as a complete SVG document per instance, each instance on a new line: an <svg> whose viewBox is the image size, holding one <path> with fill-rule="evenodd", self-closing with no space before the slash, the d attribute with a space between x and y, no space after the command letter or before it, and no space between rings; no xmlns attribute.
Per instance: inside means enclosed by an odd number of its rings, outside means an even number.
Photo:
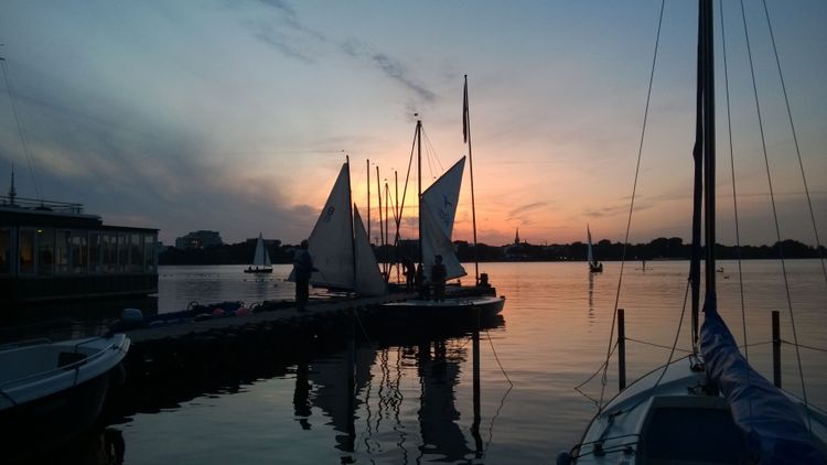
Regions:
<svg viewBox="0 0 827 465"><path fill-rule="evenodd" d="M721 262L721 312L743 343L738 267ZM241 267L161 267L159 309L191 301L246 303L291 298L288 266L256 279ZM473 270L473 264L468 267ZM580 263L483 263L507 298L504 323L480 335L479 414L474 414L470 335L325 355L282 375L229 386L178 407L138 413L109 426L123 440L127 464L224 463L552 463L579 441L601 397L615 298L625 309L627 378L663 365L676 337L688 262L620 263L590 274ZM792 326L781 264L743 263L747 342L753 366L772 377L771 314L782 311L782 338ZM798 343L827 348L827 285L817 260L787 262ZM688 309L678 347L689 347ZM378 340L382 335L367 335ZM364 338L363 338L364 339ZM802 394L792 345L783 346L785 388ZM801 349L807 397L827 407L827 355ZM356 386L347 389L348 365ZM616 358L603 397L616 393ZM772 378L771 378L772 379ZM592 399L590 399L592 398ZM476 425L476 428L475 428Z"/></svg>

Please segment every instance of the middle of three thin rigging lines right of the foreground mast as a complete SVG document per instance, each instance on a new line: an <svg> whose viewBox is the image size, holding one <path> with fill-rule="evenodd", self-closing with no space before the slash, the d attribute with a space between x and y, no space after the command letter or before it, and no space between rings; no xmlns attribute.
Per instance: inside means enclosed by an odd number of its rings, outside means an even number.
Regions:
<svg viewBox="0 0 827 465"><path fill-rule="evenodd" d="M766 7L766 4L764 4L764 7ZM770 13L766 11L766 8L764 8L764 12L769 17ZM797 334L796 328L795 328L795 314L793 312L793 300L792 300L792 298L790 295L790 280L787 278L787 266L786 266L786 261L784 260L784 250L783 250L783 247L782 247L782 244L781 244L781 227L778 226L778 212L777 212L777 209L775 207L775 195L774 195L774 191L773 191L773 180L772 180L772 173L770 172L770 158L769 158L769 155L766 153L766 138L764 137L764 122L763 122L763 119L761 117L761 102L760 102L759 96L758 96L758 84L755 82L755 66L754 66L753 61L752 61L752 47L750 45L750 33L749 33L749 30L747 29L747 13L745 13L744 8L743 8L743 0L741 0L741 19L743 21L744 37L747 39L747 54L748 54L748 56L750 58L750 75L752 77L752 93L753 93L754 98L755 98L755 111L758 113L758 120L759 120L759 130L760 130L759 132L761 133L761 148L762 148L762 151L763 151L763 154L764 154L764 166L766 169L766 182L767 182L767 185L770 187L770 203L772 205L773 221L775 224L775 237L778 240L778 259L781 260L781 270L782 270L782 275L784 278L784 291L785 291L786 298L787 298L787 310L790 311L790 323L791 323L791 326L792 326L792 329L793 329L793 340L796 344L796 346L795 346L795 357L796 357L797 363L798 363L798 376L799 376L799 379L801 379L801 382L802 382L802 394L803 394L803 398L804 398L804 404L805 405L809 405L809 402L807 401L807 388L804 385L804 368L802 367L802 354L801 354L801 350L798 349L798 334ZM773 41L773 43L774 43L774 41ZM807 411L809 412L809 409L807 409ZM807 413L807 426L808 426L808 431L810 431L810 434L812 434L812 431L813 431L813 421L809 418L809 413Z"/></svg>

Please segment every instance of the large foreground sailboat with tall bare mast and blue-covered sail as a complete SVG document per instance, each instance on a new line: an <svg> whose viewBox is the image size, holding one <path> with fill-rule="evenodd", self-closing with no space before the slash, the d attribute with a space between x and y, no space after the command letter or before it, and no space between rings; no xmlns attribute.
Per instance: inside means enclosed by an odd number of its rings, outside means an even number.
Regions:
<svg viewBox="0 0 827 465"><path fill-rule="evenodd" d="M603 405L558 464L827 463L827 413L782 391L739 352L718 313L715 263L712 1L699 1L698 118L692 215L692 354L638 379ZM701 198L702 197L702 198ZM700 224L705 302L697 347Z"/></svg>

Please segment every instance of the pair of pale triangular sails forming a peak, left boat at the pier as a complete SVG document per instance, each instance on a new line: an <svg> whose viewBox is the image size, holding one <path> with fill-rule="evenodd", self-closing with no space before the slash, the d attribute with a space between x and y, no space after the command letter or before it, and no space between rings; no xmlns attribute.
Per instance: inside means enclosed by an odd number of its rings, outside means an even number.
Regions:
<svg viewBox="0 0 827 465"><path fill-rule="evenodd" d="M336 182L308 238L315 271L314 288L384 295L387 284L370 248L358 209L351 203L350 160L342 164ZM294 281L290 273L288 281Z"/></svg>

